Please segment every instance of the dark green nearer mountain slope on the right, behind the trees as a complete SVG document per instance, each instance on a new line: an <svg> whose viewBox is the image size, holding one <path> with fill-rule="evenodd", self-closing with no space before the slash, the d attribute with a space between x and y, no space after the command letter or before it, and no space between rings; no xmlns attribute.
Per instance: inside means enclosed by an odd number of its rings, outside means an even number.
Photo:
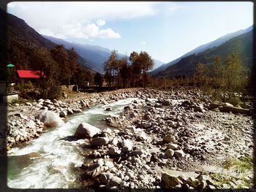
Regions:
<svg viewBox="0 0 256 192"><path fill-rule="evenodd" d="M176 64L168 66L164 71L154 74L153 77L175 77L179 74L186 74L191 77L196 69L197 64L212 64L214 57L219 55L222 57L222 62L225 62L227 55L238 53L239 58L243 62L245 69L249 72L252 67L252 36L253 31L233 37L227 42L222 43L218 47L213 47L201 53L189 55L181 58Z"/></svg>

